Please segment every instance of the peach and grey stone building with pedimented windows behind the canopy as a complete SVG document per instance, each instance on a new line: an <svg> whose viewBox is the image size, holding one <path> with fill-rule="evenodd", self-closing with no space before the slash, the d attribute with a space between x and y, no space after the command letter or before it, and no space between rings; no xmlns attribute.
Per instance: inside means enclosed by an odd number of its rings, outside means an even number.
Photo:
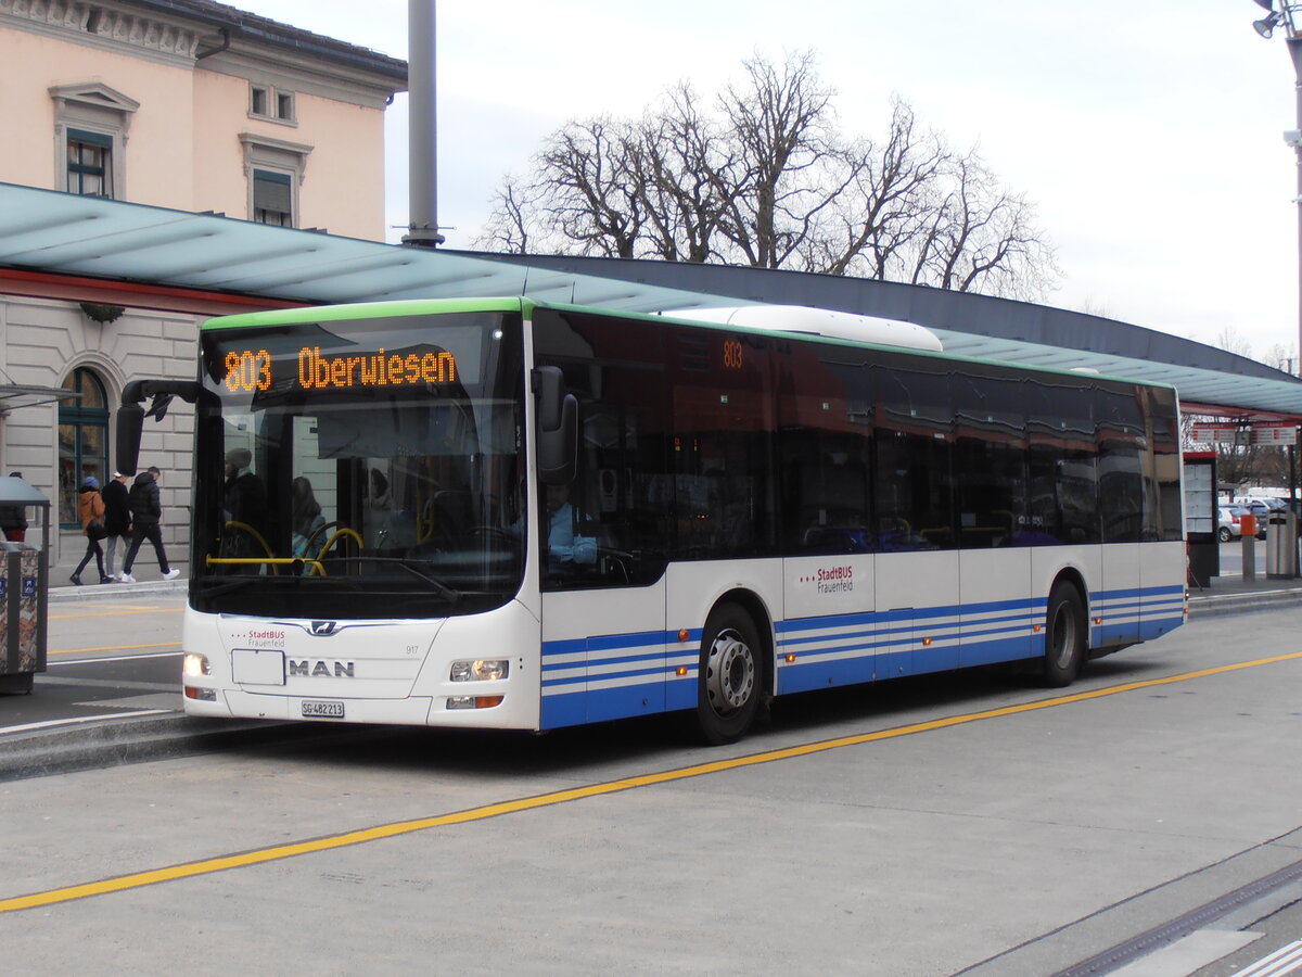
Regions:
<svg viewBox="0 0 1302 977"><path fill-rule="evenodd" d="M401 60L210 0L0 0L0 182L380 241L384 111L405 87ZM276 305L65 276L57 249L38 267L0 255L0 474L55 503L56 582L85 550L78 486L113 470L124 387L191 379L199 322ZM191 436L178 404L141 452L167 473L182 571ZM139 565L156 573L151 554Z"/></svg>

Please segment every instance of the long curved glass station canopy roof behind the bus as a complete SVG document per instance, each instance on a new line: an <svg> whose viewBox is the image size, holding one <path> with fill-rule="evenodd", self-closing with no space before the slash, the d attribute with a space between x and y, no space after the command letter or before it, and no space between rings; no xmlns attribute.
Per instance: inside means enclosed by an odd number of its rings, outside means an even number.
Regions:
<svg viewBox="0 0 1302 977"><path fill-rule="evenodd" d="M1256 361L1083 313L885 281L408 248L13 184L0 184L0 268L305 305L518 294L642 313L807 305L926 326L962 356L1168 383L1197 413L1302 422L1302 380Z"/></svg>

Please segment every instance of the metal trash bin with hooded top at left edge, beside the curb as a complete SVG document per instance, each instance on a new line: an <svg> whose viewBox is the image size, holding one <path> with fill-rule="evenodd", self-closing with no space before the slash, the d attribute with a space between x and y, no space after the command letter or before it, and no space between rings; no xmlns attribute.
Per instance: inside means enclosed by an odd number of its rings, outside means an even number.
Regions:
<svg viewBox="0 0 1302 977"><path fill-rule="evenodd" d="M40 547L0 542L0 692L31 692L46 671L49 500L21 478L0 478L0 505L39 509Z"/></svg>

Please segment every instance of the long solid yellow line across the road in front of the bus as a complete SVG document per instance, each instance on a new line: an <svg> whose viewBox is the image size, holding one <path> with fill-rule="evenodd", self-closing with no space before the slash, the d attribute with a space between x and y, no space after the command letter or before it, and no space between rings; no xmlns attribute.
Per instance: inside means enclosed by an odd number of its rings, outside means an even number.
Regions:
<svg viewBox="0 0 1302 977"><path fill-rule="evenodd" d="M25 896L13 896L9 899L0 899L0 913L13 912L16 909L34 909L42 905L55 905L59 903L68 903L74 899L86 899L87 896L107 895L109 892L125 892L133 888L142 888L145 886L152 886L159 882L172 882L174 879L194 878L195 875L207 875L214 871L225 871L227 869L241 869L250 865L262 865L270 861L279 861L281 858L290 858L296 855L311 855L314 852L328 852L336 848L346 848L354 844L365 844L366 842L378 842L384 838L397 838L400 835L409 835L415 831L427 831L432 827L445 827L448 825L465 825L473 821L484 821L486 818L496 818L503 814L518 814L526 810L535 810L538 808L548 808L556 804L569 804L570 801L579 801L589 797L602 797L611 793L620 793L622 791L631 791L635 787L651 787L655 784L673 783L674 780L686 780L694 776L704 776L707 774L719 774L727 770L740 770L743 767L758 766L760 763L772 763L779 759L792 759L793 757L807 757L814 753L823 753L827 750L840 749L842 746L859 746L866 743L879 743L881 740L893 740L900 736L911 736L921 732L931 732L935 729L947 729L954 726L963 726L966 723L975 723L982 719L999 719L1003 716L1018 715L1021 713L1034 713L1040 709L1052 709L1055 706L1065 706L1073 702L1087 702L1090 700L1104 698L1107 696L1116 696L1122 692L1134 692L1137 689L1151 689L1160 685L1170 685L1180 681L1189 681L1191 679L1206 679L1212 675L1223 675L1225 672L1234 672L1242 668L1255 668L1263 664L1275 664L1279 662L1289 662L1302 658L1302 651L1293 651L1284 655L1273 655L1271 658L1258 658L1251 662L1238 662L1236 664L1223 664L1215 668L1200 668L1195 672L1182 672L1180 675L1170 675L1164 679L1144 679L1141 681L1124 683L1121 685L1109 685L1101 689L1090 689L1088 692L1077 692L1069 696L1057 696L1055 698L1040 700L1038 702L1025 702L1017 706L1003 706L1000 709L987 709L980 713L965 713L962 715L945 716L943 719L931 719L924 723L910 723L909 726L897 726L891 729L879 729L878 732L870 733L855 733L854 736L841 736L835 740L822 740L819 743L806 743L798 746L786 746L776 750L766 750L763 753L753 753L747 757L733 757L730 759L717 759L710 763L697 763L690 767L681 767L678 770L664 770L658 774L642 774L639 776L626 776L618 780L608 780L599 784L589 784L587 787L574 787L568 791L553 791L551 793L540 793L535 797L521 797L512 801L501 801L499 804L486 804L479 808L470 808L467 810L454 812L452 814L437 814L427 818L417 818L414 821L397 821L389 825L378 825L376 827L361 828L358 831L345 831L337 835L327 835L324 838L316 838L309 842L294 842L292 844L275 845L272 848L260 848L251 852L243 852L241 855L225 855L216 858L203 858L201 861L186 862L182 865L169 865L163 869L152 869L150 871L135 871L128 875L117 875L115 878L102 879L99 882L87 882L79 886L66 886L64 888L52 888L46 892L34 892Z"/></svg>

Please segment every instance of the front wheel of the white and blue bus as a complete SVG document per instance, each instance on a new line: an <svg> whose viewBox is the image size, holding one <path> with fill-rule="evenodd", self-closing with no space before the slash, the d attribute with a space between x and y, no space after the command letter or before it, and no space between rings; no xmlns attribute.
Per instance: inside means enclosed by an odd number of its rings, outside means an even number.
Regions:
<svg viewBox="0 0 1302 977"><path fill-rule="evenodd" d="M740 740L763 697L759 632L734 603L711 611L700 642L697 726L711 746Z"/></svg>

